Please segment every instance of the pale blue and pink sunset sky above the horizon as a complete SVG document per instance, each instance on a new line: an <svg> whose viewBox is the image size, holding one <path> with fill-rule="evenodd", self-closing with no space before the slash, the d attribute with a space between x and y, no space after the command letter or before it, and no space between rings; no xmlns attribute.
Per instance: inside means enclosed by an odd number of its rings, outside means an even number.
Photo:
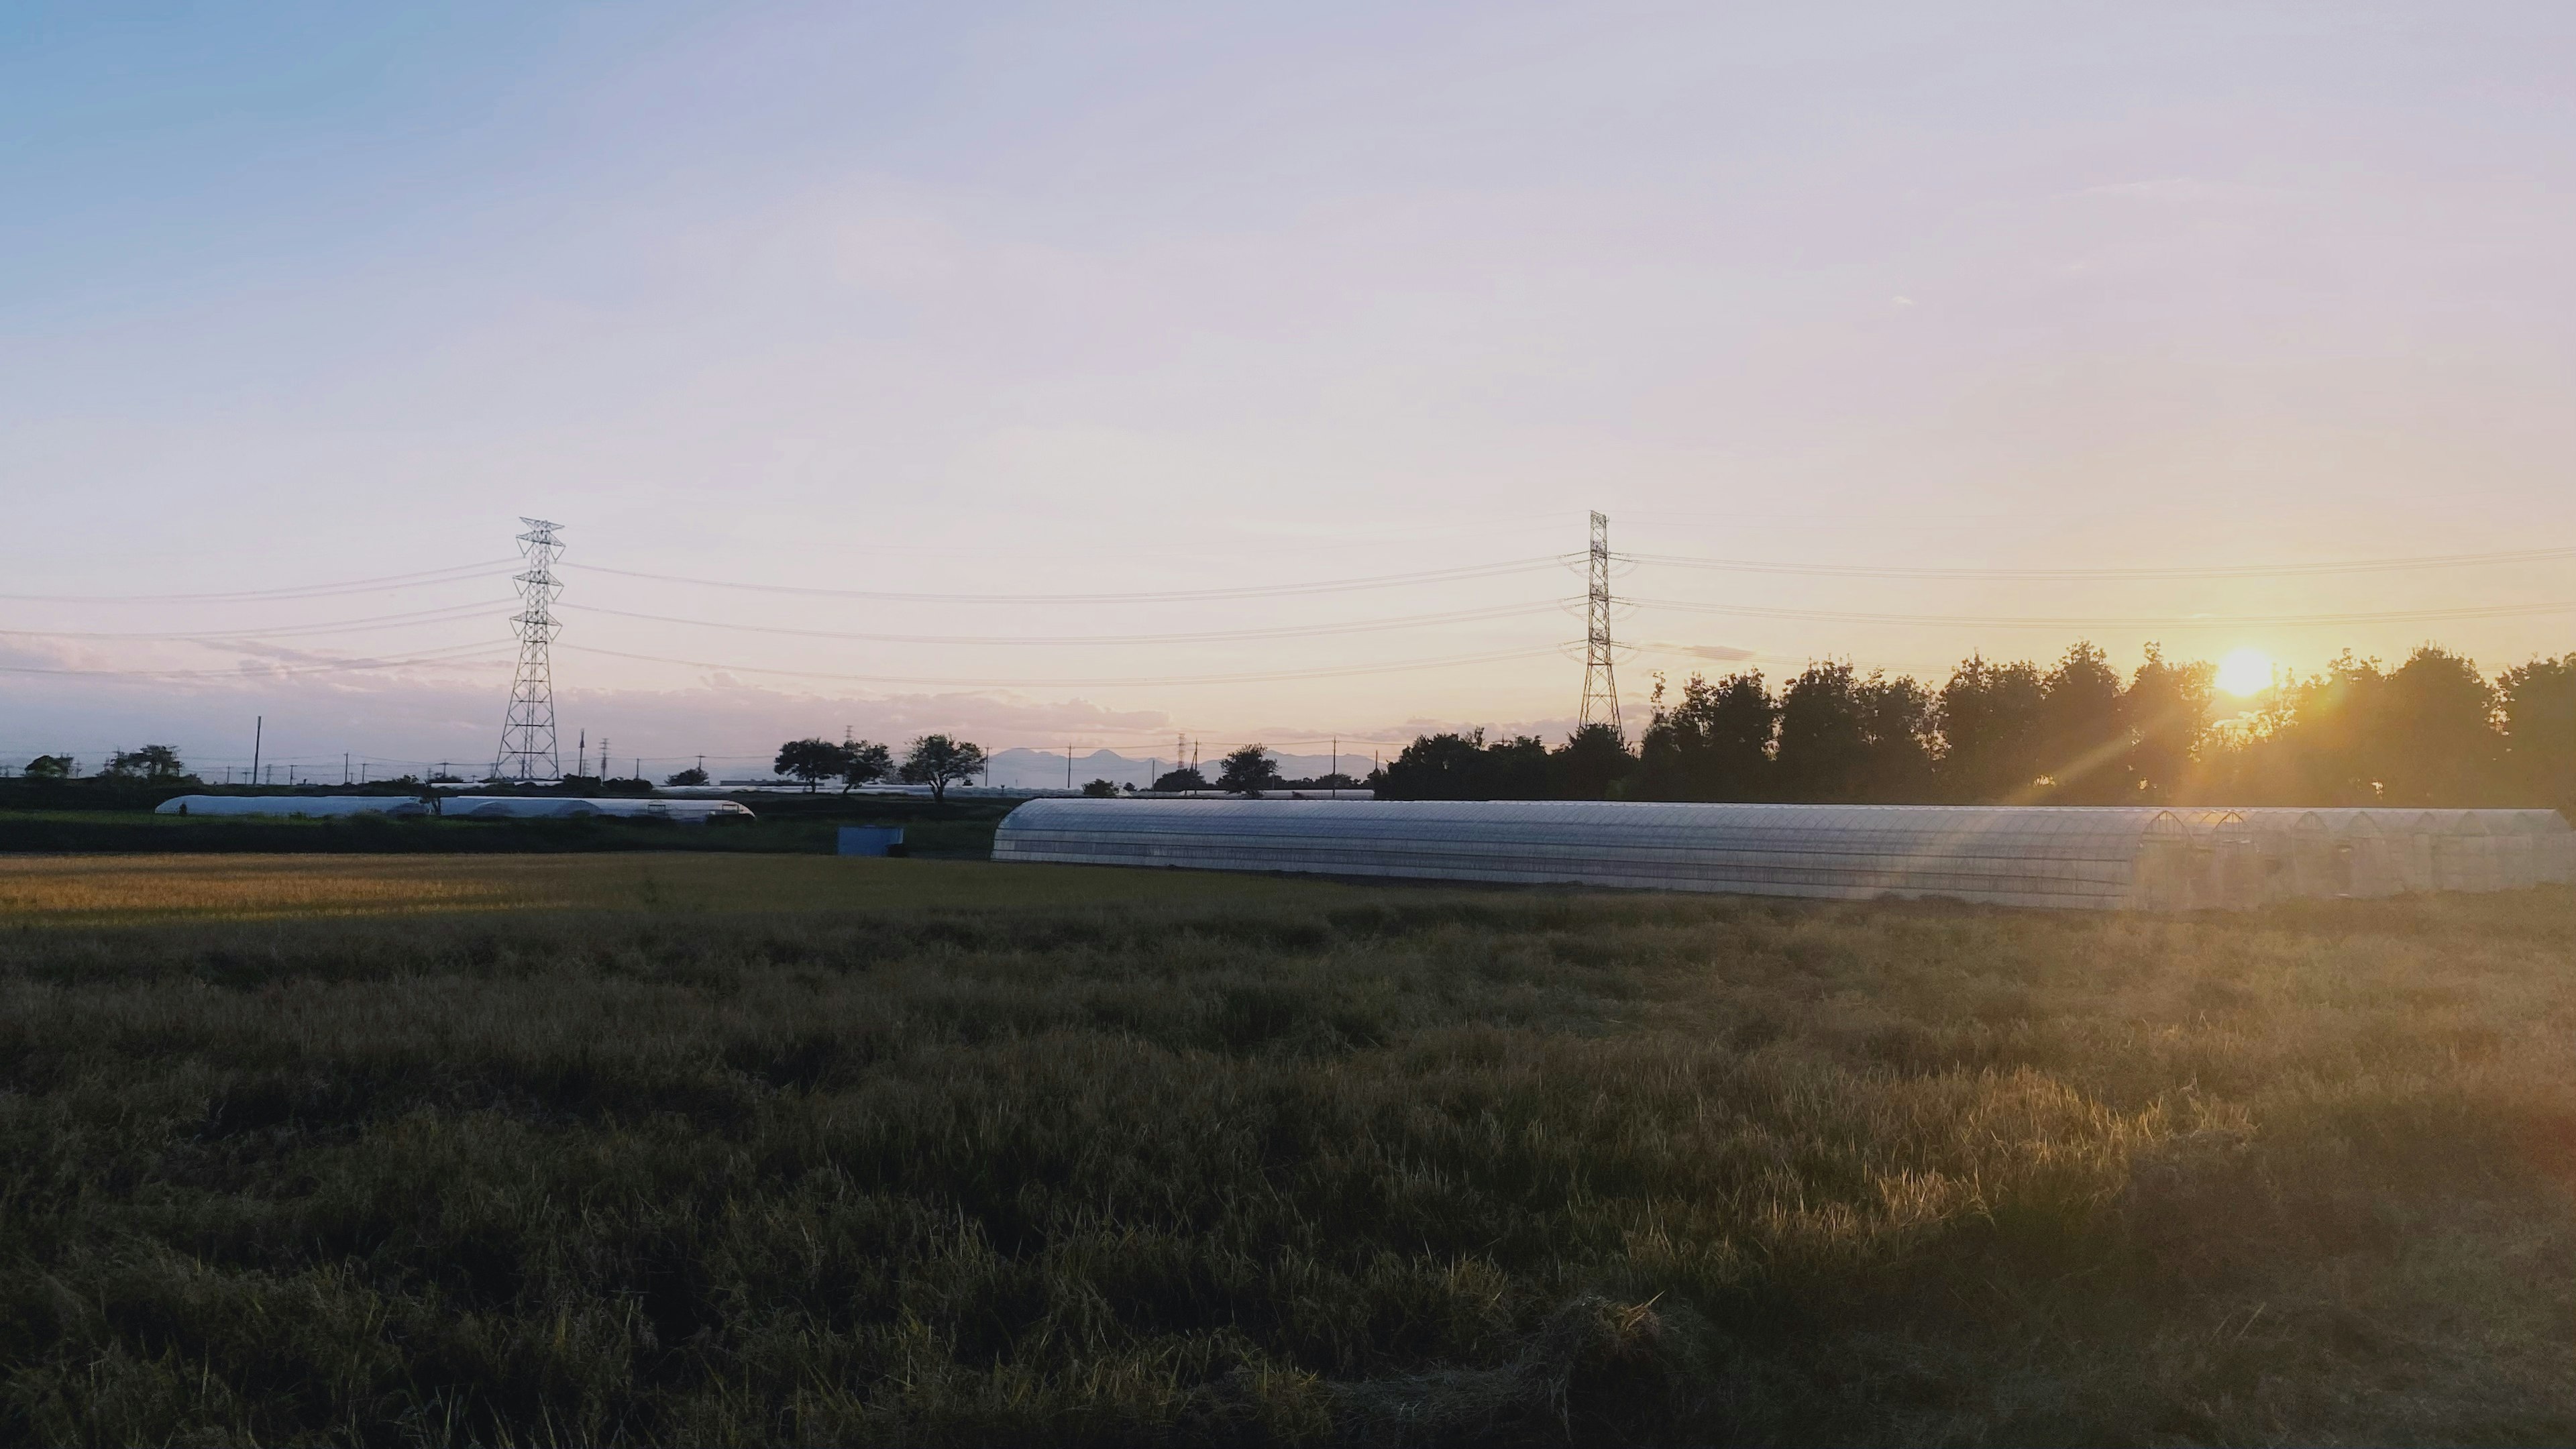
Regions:
<svg viewBox="0 0 2576 1449"><path fill-rule="evenodd" d="M1589 511L1631 724L2568 652L2571 59L2509 3L10 5L0 763L489 761L523 516L567 763L654 773L1561 735Z"/></svg>

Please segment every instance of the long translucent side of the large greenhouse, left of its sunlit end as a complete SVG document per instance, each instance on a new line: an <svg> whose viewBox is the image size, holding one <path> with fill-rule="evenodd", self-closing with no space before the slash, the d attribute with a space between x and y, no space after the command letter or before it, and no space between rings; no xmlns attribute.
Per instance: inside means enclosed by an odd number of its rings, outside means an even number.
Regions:
<svg viewBox="0 0 2576 1449"><path fill-rule="evenodd" d="M2172 810L1033 799L997 861L1996 905L2197 905Z"/></svg>

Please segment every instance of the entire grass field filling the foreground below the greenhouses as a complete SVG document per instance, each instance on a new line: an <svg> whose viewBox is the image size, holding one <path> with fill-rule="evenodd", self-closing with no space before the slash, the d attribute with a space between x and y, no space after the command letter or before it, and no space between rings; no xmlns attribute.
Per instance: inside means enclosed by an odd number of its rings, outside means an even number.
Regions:
<svg viewBox="0 0 2576 1449"><path fill-rule="evenodd" d="M2576 895L0 859L0 1441L2566 1441Z"/></svg>

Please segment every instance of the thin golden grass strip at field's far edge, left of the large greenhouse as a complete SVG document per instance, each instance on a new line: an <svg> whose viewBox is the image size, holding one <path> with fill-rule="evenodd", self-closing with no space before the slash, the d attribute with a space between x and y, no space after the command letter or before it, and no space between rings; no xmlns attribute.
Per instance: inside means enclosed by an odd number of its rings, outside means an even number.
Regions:
<svg viewBox="0 0 2576 1449"><path fill-rule="evenodd" d="M1329 882L747 853L0 856L0 926L451 910L884 910L1334 900Z"/></svg>

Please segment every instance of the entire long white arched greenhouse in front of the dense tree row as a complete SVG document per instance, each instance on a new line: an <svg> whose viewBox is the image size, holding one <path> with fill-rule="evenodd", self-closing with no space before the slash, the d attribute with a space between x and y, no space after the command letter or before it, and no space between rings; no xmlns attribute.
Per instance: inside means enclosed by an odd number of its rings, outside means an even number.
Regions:
<svg viewBox="0 0 2576 1449"><path fill-rule="evenodd" d="M2195 910L2568 882L2553 810L1033 799L997 861Z"/></svg>

